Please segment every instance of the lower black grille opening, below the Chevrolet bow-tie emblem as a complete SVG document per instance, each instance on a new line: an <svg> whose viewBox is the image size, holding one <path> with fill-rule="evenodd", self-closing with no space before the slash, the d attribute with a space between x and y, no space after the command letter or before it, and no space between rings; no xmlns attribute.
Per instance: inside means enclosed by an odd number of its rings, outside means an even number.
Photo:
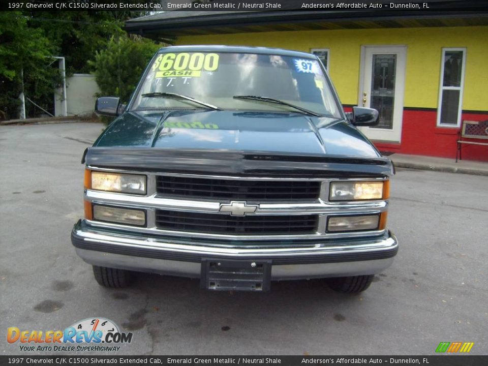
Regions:
<svg viewBox="0 0 488 366"><path fill-rule="evenodd" d="M156 226L163 230L230 235L314 234L318 215L230 216L156 210Z"/></svg>

